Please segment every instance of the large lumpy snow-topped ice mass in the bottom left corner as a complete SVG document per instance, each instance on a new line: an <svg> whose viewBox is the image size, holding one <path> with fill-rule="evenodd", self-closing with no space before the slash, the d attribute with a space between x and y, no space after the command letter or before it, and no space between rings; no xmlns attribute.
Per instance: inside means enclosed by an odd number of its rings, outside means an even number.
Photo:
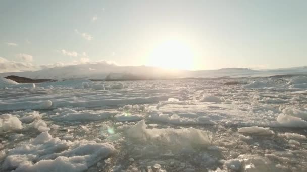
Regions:
<svg viewBox="0 0 307 172"><path fill-rule="evenodd" d="M107 143L66 141L42 132L27 144L9 150L3 169L14 171L85 171L115 151Z"/></svg>

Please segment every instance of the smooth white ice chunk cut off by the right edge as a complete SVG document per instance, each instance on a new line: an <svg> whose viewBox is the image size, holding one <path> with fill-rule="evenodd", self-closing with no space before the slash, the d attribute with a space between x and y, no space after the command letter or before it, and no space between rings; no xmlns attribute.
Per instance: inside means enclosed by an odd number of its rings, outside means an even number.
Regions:
<svg viewBox="0 0 307 172"><path fill-rule="evenodd" d="M307 122L298 117L293 117L286 114L279 114L277 117L279 126L282 127L307 127Z"/></svg>

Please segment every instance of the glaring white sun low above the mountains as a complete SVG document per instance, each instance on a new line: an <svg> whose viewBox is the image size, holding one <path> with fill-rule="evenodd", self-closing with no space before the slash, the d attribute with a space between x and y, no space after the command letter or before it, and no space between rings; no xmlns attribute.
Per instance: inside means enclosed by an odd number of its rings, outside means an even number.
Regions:
<svg viewBox="0 0 307 172"><path fill-rule="evenodd" d="M190 70L193 68L193 58L187 44L178 40L168 40L152 50L147 64L168 69Z"/></svg>

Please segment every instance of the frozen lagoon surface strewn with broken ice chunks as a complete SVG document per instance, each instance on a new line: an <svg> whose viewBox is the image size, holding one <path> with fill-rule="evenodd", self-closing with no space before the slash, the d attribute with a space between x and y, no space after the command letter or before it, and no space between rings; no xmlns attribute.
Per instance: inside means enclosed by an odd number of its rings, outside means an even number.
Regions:
<svg viewBox="0 0 307 172"><path fill-rule="evenodd" d="M0 171L307 171L307 77L0 81Z"/></svg>

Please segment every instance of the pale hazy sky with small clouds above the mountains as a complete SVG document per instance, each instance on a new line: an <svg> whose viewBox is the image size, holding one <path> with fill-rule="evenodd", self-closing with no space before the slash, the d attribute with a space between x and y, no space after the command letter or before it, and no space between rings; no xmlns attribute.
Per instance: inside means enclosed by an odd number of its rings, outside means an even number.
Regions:
<svg viewBox="0 0 307 172"><path fill-rule="evenodd" d="M304 0L2 0L0 68L102 60L189 70L304 66L306 9Z"/></svg>

